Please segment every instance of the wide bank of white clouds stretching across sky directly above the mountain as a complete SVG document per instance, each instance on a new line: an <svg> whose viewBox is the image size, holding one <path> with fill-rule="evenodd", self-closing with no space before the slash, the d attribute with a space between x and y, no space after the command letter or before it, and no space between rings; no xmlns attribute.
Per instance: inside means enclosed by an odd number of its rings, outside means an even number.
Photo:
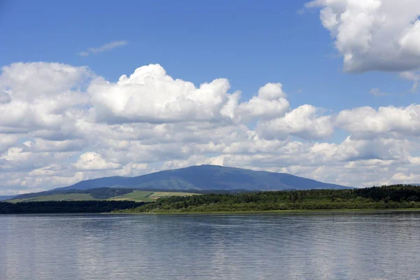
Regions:
<svg viewBox="0 0 420 280"><path fill-rule="evenodd" d="M87 67L10 64L0 92L3 193L200 164L349 186L400 183L401 174L420 172L416 104L334 114L310 104L292 108L281 83L241 101L225 78L196 86L159 64L116 83ZM347 134L341 143L331 139L337 129Z"/></svg>

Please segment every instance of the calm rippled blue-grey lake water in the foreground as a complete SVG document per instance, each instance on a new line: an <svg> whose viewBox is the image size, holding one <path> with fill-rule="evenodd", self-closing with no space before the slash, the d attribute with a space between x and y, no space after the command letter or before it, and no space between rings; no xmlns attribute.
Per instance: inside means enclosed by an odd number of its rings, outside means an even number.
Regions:
<svg viewBox="0 0 420 280"><path fill-rule="evenodd" d="M420 212L0 216L0 279L420 279Z"/></svg>

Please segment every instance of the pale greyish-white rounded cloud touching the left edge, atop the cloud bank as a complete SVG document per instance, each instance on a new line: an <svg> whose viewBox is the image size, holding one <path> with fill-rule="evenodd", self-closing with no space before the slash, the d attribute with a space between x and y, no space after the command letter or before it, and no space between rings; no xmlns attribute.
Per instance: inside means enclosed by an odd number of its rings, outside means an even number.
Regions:
<svg viewBox="0 0 420 280"><path fill-rule="evenodd" d="M0 92L8 97L0 102L0 127L57 128L87 102L82 90L91 73L86 67L34 62L1 70Z"/></svg>

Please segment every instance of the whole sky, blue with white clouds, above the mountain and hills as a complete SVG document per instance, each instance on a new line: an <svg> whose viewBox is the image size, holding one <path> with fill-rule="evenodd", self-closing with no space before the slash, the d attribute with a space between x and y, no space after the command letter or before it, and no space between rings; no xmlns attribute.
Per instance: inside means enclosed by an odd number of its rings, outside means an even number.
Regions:
<svg viewBox="0 0 420 280"><path fill-rule="evenodd" d="M0 195L190 165L420 183L420 1L0 1Z"/></svg>

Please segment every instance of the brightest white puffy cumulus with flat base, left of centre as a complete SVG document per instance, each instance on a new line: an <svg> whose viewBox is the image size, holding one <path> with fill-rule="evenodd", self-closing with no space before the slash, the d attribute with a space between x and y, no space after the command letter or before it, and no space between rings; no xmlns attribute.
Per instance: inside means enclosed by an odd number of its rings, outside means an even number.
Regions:
<svg viewBox="0 0 420 280"><path fill-rule="evenodd" d="M228 94L227 79L195 87L168 76L159 64L141 66L117 83L104 78L87 89L95 118L109 123L173 123L185 120L231 118L237 96Z"/></svg>

